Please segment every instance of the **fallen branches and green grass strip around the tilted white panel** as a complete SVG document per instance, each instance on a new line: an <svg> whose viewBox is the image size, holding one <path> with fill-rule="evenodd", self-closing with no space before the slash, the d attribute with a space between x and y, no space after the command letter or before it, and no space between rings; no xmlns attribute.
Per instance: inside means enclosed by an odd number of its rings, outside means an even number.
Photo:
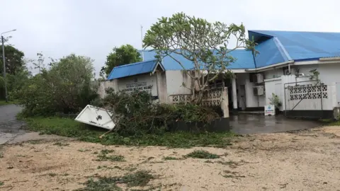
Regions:
<svg viewBox="0 0 340 191"><path fill-rule="evenodd" d="M166 105L152 103L146 92L113 92L108 91L104 100L92 103L101 108L110 108L118 115L115 118L115 131L101 137L105 130L91 127L68 117L26 117L27 129L42 134L57 134L64 137L75 137L81 141L101 144L119 144L135 146L215 146L230 145L230 132L214 133L198 129L197 132L172 132L173 122L205 122L218 116L212 109L198 105Z"/></svg>

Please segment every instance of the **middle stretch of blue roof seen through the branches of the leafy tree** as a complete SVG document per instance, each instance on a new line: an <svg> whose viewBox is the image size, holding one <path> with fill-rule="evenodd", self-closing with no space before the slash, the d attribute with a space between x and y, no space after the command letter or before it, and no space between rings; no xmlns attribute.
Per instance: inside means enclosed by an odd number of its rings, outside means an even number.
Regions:
<svg viewBox="0 0 340 191"><path fill-rule="evenodd" d="M230 52L230 55L234 57L236 60L233 63L230 63L227 66L227 69L252 69L255 67L254 57L251 51L249 50L233 50ZM154 50L145 50L144 58L145 59L154 59L156 56L156 52ZM193 62L188 59L182 57L179 54L171 54L171 57L179 60L181 64L185 67L185 69L193 69ZM165 70L181 70L182 66L176 62L171 57L164 57L162 60L162 64Z"/></svg>

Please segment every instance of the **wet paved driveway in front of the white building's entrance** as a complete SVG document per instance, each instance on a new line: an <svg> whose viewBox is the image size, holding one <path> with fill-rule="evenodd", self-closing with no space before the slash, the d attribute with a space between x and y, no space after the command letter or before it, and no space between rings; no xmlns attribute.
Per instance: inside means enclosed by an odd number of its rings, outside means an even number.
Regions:
<svg viewBox="0 0 340 191"><path fill-rule="evenodd" d="M310 129L319 127L321 124L311 120L289 119L283 115L241 114L230 116L230 126L232 132L236 134L259 134Z"/></svg>

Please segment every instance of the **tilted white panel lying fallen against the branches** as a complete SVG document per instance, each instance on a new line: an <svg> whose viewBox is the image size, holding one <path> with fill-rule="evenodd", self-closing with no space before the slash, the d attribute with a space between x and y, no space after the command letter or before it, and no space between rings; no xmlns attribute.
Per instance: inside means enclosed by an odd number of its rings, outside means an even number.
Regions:
<svg viewBox="0 0 340 191"><path fill-rule="evenodd" d="M109 112L106 109L97 108L93 105L86 105L84 110L79 113L75 120L104 129L113 129L115 123L112 121L111 116L113 116L112 112Z"/></svg>

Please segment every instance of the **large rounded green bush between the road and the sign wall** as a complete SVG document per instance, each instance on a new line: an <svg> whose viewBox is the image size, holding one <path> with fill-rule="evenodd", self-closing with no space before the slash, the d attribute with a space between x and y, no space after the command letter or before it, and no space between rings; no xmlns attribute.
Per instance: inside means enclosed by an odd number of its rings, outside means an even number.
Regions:
<svg viewBox="0 0 340 191"><path fill-rule="evenodd" d="M23 115L55 115L56 112L79 112L97 97L91 85L94 68L89 57L70 54L50 64L28 79L16 93L23 105Z"/></svg>

